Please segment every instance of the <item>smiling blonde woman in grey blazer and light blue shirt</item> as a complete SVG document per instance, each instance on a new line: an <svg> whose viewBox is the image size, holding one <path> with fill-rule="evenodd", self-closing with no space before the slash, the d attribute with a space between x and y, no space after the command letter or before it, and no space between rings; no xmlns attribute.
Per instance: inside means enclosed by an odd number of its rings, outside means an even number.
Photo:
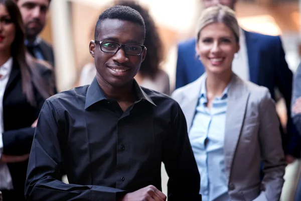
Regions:
<svg viewBox="0 0 301 201"><path fill-rule="evenodd" d="M228 7L205 9L194 47L205 73L172 95L187 120L203 201L279 200L284 182L286 163L269 90L232 70L239 30Z"/></svg>

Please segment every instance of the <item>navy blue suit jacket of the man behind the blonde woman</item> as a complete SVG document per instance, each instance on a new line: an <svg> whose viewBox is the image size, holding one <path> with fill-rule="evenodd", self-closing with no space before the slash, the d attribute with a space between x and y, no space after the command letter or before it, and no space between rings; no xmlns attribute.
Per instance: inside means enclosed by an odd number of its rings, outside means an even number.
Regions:
<svg viewBox="0 0 301 201"><path fill-rule="evenodd" d="M265 86L275 99L275 88L282 93L287 109L286 130L289 142L285 142L282 131L282 140L287 154L300 157L301 139L290 118L290 102L292 91L292 72L285 61L285 55L279 36L268 36L244 31L249 62L250 81ZM196 39L190 39L178 46L178 61L176 72L176 88L195 81L204 72L205 68L195 51Z"/></svg>

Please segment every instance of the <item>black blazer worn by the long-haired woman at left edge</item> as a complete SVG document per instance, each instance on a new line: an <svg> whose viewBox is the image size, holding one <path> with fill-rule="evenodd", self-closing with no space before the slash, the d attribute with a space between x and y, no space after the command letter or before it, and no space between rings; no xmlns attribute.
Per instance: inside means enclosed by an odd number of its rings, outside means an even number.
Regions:
<svg viewBox="0 0 301 201"><path fill-rule="evenodd" d="M52 70L38 65L44 79L50 79ZM14 60L8 84L3 98L3 153L7 155L23 155L30 153L35 128L31 125L38 118L45 99L34 89L37 106L31 106L22 92L22 79L19 64ZM24 186L28 161L9 163L13 179L16 200L25 200Z"/></svg>

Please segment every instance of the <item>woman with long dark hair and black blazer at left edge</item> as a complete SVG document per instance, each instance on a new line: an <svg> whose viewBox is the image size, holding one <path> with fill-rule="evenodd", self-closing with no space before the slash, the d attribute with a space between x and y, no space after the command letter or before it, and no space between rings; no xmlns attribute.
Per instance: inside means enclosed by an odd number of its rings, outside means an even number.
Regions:
<svg viewBox="0 0 301 201"><path fill-rule="evenodd" d="M25 200L36 120L45 99L54 94L51 66L32 58L24 40L16 3L0 0L0 191L4 201Z"/></svg>

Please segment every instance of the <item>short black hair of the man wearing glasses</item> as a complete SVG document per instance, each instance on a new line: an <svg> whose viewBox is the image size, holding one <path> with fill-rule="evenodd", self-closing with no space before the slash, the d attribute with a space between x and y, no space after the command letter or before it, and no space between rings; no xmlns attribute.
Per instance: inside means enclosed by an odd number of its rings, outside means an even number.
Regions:
<svg viewBox="0 0 301 201"><path fill-rule="evenodd" d="M144 20L139 14L139 12L127 6L113 6L105 10L102 14L100 14L95 26L94 39L97 39L96 37L98 36L101 23L106 19L126 20L132 23L139 24L141 27L141 31L143 33L143 40L144 40L145 38Z"/></svg>

